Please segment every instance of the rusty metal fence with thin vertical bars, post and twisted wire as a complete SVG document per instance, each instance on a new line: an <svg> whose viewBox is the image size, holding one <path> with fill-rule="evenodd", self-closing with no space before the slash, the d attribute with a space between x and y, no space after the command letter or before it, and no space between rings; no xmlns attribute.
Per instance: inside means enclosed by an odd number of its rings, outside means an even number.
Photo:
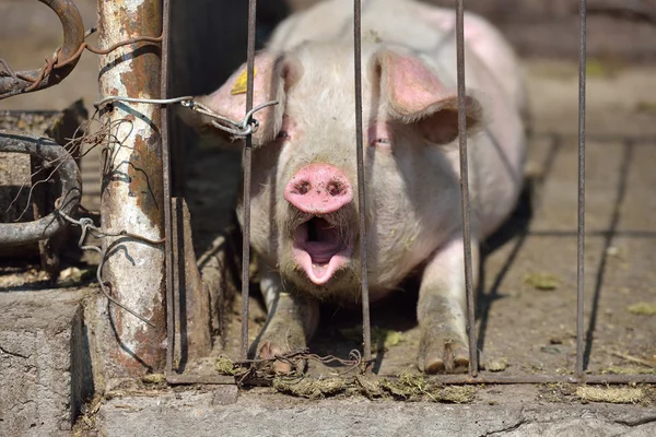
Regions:
<svg viewBox="0 0 656 437"><path fill-rule="evenodd" d="M48 238L52 233L56 233L65 223L72 223L83 229L83 237L86 232L103 237L105 240L103 249L95 248L102 255L101 265L97 270L97 279L102 291L107 298L128 310L133 316L144 322L143 327L134 328L133 319L118 317L116 324L118 336L121 342L131 346L134 355L141 357L148 363L154 363L152 366L156 368L156 363L160 361L160 352L156 346L162 341L166 341L165 355L165 371L169 383L234 383L234 377L224 377L219 375L194 375L178 374L174 368L174 357L176 347L176 312L179 312L180 303L180 284L179 276L184 275L184 268L179 267L180 257L184 257L181 247L188 241L176 240L176 231L184 224L179 223L178 216L174 213L172 204L175 199L172 199L172 182L171 182L171 149L168 143L168 104L181 104L203 114L214 116L208 113L207 108L194 102L192 97L167 98L166 90L168 84L168 51L169 51L169 0L164 0L161 4L161 10L155 7L155 12L151 12L150 16L144 16L143 21L147 26L120 28L118 23L125 21L125 16L119 20L121 12L118 10L118 3L122 2L105 2L106 5L101 11L101 24L103 27L101 40L108 46L106 49L94 49L84 43L84 33L77 14L74 4L70 0L40 0L43 3L54 9L61 17L65 28L65 45L48 59L46 64L32 72L13 72L9 66L2 61L5 73L0 74L0 98L12 95L37 91L43 87L51 86L63 80L65 76L74 68L77 60L84 51L89 49L93 52L107 55L118 49L130 47L136 43L161 44L161 58L153 56L145 63L136 66L129 52L122 52L122 61L117 62L106 59L103 69L109 71L116 69L119 63L122 63L122 72L128 72L138 78L137 81L130 83L121 82L119 73L113 73L101 80L102 93L106 98L96 104L99 110L103 110L105 126L115 128L114 133L106 132L105 137L98 140L97 137L90 141L96 140L96 143L105 142L107 152L105 154L105 174L117 176L115 162L121 161L120 165L126 164L133 166L133 151L150 156L150 162L143 168L148 170L148 175L138 184L141 184L143 191L147 192L139 198L137 203L129 203L128 199L132 193L125 192L125 187L110 186L110 181L106 182L104 193L102 216L102 228L95 227L93 221L73 217L74 204L68 206L60 205L52 212L49 220L57 223L56 227L49 227L46 233L42 227L33 229L32 234L36 235L37 239ZM155 4L159 2L153 2ZM365 199L366 192L364 184L364 165L363 165L363 129L362 129L362 67L361 67L361 1L353 1L354 12L354 84L355 84L355 127L356 127L356 143L354 153L358 156L358 186L359 186L359 224L361 236L361 298L362 298L362 345L363 355L353 361L342 361L349 365L363 364L363 371L371 371L368 364L372 361L372 331L370 321L370 299L368 299L368 282L367 282L367 247L366 247L366 221L365 221ZM468 186L468 163L467 163L467 135L466 132L466 111L465 111L465 43L464 43L464 1L456 0L456 38L457 38L457 92L458 92L458 132L459 132L459 157L460 157L460 188L461 188L461 208L462 208L462 235L465 247L465 279L466 279L466 295L467 295L467 332L469 340L469 373L467 375L440 375L434 376L436 380L444 383L541 383L541 382L574 382L574 383L633 383L633 382L656 382L654 375L588 375L585 371L584 364L584 238L585 238L585 111L586 111L586 1L579 1L579 66L578 66L578 208L577 208L577 311L576 311L576 363L573 369L573 375L518 375L518 376L499 376L493 374L479 374L479 357L477 353L477 335L475 329L475 296L473 296L473 273L470 249L470 201ZM244 222L243 222L243 246L242 246L242 328L241 328L241 357L239 361L247 365L248 361L248 319L249 319L249 264L250 264L250 186L251 186L251 154L253 154L253 130L256 126L257 110L260 107L254 108L254 66L255 66L255 34L256 34L256 13L257 1L249 0L248 2L248 43L247 43L247 84L246 84L246 113L243 120L226 120L221 117L215 117L215 126L224 130L231 130L241 134L245 139L243 151L244 166ZM143 36L138 35L138 32L147 28L149 33L161 36ZM89 34L89 33L87 33ZM116 37L121 36L122 42L116 43ZM147 45L148 46L148 45ZM143 49L144 46L141 48ZM147 50L147 49L145 49ZM145 80L150 75L149 80ZM157 78L159 76L159 78ZM140 79L139 79L140 78ZM157 79L153 79L157 78ZM144 87L144 83L149 85ZM118 94L118 95L116 95ZM125 94L125 95L122 95ZM140 98L136 96L139 95ZM156 106L160 105L157 109ZM127 117L131 117L131 123L127 131L122 131L121 122ZM137 134L132 131L134 123L138 120L147 120L144 126L139 129L141 140L137 141ZM126 141L107 141L118 135L118 132L124 132ZM159 137L157 137L159 134ZM27 145L30 135L24 135L21 139L12 139L3 132L0 132L0 151L3 152L23 152L32 153L32 149ZM89 139L89 138L87 138ZM17 141L17 143L16 143ZM17 144L17 145L16 145ZM128 146L131 151L127 155L121 155L121 147ZM125 149L124 149L125 150ZM153 152L154 151L154 152ZM156 152L160 151L161 154ZM50 155L42 155L45 160L51 160ZM66 161L66 160L65 160ZM143 164L143 163L142 163ZM109 168L112 167L112 168ZM59 167L60 172L72 170L69 165ZM128 170L125 170L129 173ZM74 173L74 172L73 172ZM124 173L124 176L125 174ZM130 174L134 176L134 174ZM62 197L67 198L72 191L79 187L70 184L65 184ZM78 199L79 202L79 199ZM131 202L131 200L130 200ZM163 205L163 206L162 206ZM131 217L134 214L144 214L149 217L150 225L136 226L137 229L127 232L130 226ZM40 222L38 222L40 223ZM37 224L38 224L37 223ZM44 222L45 223L45 222ZM7 226L21 225L0 225L0 243L15 243L8 237L9 234L16 235ZM37 226L31 225L31 226ZM40 225L39 225L40 226ZM26 228L23 226L23 228ZM124 231L116 231L124 229ZM132 232L133 231L133 232ZM8 234L9 233L9 234ZM178 241L178 244L174 244ZM129 271L121 265L113 265L113 262L107 260L110 258L112 250L117 244L127 245L130 252L141 259L148 259L148 269L150 272L145 274L144 286L141 290L140 296L134 298L130 296L133 290L133 284L129 287L125 281L132 277L120 277ZM164 245L162 248L161 245ZM83 245L83 239L80 240ZM145 249L143 247L147 247ZM126 249L128 250L128 249ZM105 265L107 264L107 265ZM109 279L103 274L103 267L107 267ZM150 282L147 284L147 282ZM165 291L165 293L164 293ZM165 300L165 305L162 303ZM164 310L165 309L165 310ZM165 326L165 330L164 330ZM150 344L149 344L150 343ZM119 357L121 352L116 354L116 362L130 366L141 366L143 363L129 364L125 358ZM321 358L318 357L320 361ZM133 363L133 362L131 362ZM242 379L241 383L258 383L256 380Z"/></svg>

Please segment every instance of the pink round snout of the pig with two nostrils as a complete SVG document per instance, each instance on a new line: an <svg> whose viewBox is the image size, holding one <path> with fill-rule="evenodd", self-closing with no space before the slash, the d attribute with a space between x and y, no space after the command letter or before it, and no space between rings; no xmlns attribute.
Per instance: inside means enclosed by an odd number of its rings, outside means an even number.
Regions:
<svg viewBox="0 0 656 437"><path fill-rule="evenodd" d="M308 214L329 214L353 201L349 178L330 164L311 164L284 188L284 199Z"/></svg>

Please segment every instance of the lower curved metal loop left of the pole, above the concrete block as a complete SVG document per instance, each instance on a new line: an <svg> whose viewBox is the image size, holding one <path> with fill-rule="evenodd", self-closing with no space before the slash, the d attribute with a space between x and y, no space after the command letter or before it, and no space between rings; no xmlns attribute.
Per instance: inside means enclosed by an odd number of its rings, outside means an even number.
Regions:
<svg viewBox="0 0 656 437"><path fill-rule="evenodd" d="M82 181L74 157L65 147L47 137L0 130L0 152L28 153L43 160L45 169L49 169L51 175L59 175L59 209L67 215L74 215L82 198ZM68 222L57 211L33 222L0 223L0 244L23 245L44 240L63 231L67 225Z"/></svg>

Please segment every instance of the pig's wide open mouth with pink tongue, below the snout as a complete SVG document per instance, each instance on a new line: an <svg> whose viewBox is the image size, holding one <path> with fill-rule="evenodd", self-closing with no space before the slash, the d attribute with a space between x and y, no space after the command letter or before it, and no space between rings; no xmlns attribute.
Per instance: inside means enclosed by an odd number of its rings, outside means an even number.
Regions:
<svg viewBox="0 0 656 437"><path fill-rule="evenodd" d="M319 216L296 228L292 247L296 263L317 285L326 284L351 257L340 229Z"/></svg>

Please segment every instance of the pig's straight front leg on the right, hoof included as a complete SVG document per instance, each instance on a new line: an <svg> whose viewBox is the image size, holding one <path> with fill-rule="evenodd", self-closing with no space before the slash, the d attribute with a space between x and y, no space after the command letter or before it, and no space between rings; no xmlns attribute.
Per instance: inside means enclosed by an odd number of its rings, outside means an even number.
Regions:
<svg viewBox="0 0 656 437"><path fill-rule="evenodd" d="M418 367L426 374L464 371L469 365L464 247L461 236L452 239L433 255L423 272L417 308ZM473 240L471 261L476 275L479 252Z"/></svg>

